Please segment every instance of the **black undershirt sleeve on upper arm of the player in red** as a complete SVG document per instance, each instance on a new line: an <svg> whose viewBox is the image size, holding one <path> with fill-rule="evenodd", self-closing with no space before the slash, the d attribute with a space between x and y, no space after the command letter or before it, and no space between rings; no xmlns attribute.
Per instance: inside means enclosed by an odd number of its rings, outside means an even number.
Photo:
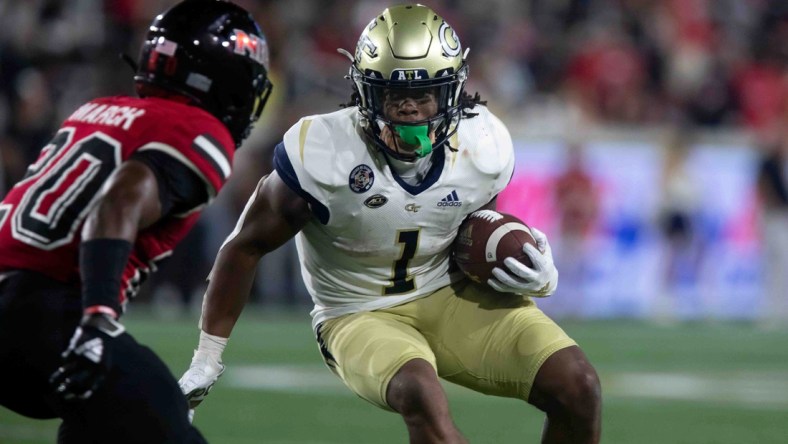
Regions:
<svg viewBox="0 0 788 444"><path fill-rule="evenodd" d="M156 176L162 216L183 213L208 201L205 181L169 154L146 150L131 158L147 165Z"/></svg>

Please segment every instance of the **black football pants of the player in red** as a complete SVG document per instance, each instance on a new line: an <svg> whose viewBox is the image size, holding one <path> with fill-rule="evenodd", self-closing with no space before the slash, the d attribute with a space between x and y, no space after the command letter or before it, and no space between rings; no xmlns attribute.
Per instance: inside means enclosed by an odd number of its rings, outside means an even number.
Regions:
<svg viewBox="0 0 788 444"><path fill-rule="evenodd" d="M128 333L112 369L86 401L62 402L48 380L82 313L78 288L29 271L0 273L0 405L63 422L58 442L204 443L167 366Z"/></svg>

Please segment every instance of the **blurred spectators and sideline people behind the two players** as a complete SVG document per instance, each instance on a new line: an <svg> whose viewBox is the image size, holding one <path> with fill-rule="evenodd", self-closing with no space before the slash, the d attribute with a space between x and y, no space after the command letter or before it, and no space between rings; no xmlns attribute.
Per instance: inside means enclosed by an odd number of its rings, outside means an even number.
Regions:
<svg viewBox="0 0 788 444"><path fill-rule="evenodd" d="M150 20L173 3L0 2L0 195L24 174L26 165L76 106L100 95L133 94L132 70L118 54L136 58ZM263 121L239 152L233 179L190 235L191 241L181 245L149 285L144 297L154 300L199 300L221 241L257 180L272 168L274 145L299 117L330 112L348 101L350 83L343 76L349 61L336 49L352 53L363 27L390 4L378 0L236 3L252 12L269 39L274 96ZM666 258L683 251L680 261L660 272L666 279L681 280L702 250L692 238L689 213L704 204L694 193L683 162L698 144L745 147L751 154L746 159L752 159L746 170L752 179L748 184L755 193L746 214L753 215L748 223L758 240L756 260L762 265L752 277L760 284L753 288L764 295L771 292L771 299L788 300L784 278L788 275L788 2L423 3L442 14L463 46L470 48L467 90L488 100L507 123L518 149L549 141L565 154L544 163L556 166L551 190L543 190L554 196L550 208L556 221L544 219L550 222L546 228L551 242L570 252L582 248L578 242L589 232L604 231L598 220L604 200L595 197L599 192L594 188L595 170L586 168L593 150L584 152L584 145L620 141L626 134L624 139L655 146L660 153L658 167L644 167L656 168L663 176L655 205L660 214L648 220L662 234L660 251ZM530 162L527 152L518 156L523 164ZM514 201L516 196L510 198ZM563 258L569 257L577 255L564 253ZM565 267L570 280L566 285L562 281L562 294L579 288L573 287L571 276L584 265ZM582 279L578 282L582 284ZM262 303L309 304L292 245L264 258L253 297ZM572 296L562 297L572 304ZM763 301L766 312L776 310L767 307L770 297L753 300ZM660 304L652 305L648 313L660 312Z"/></svg>

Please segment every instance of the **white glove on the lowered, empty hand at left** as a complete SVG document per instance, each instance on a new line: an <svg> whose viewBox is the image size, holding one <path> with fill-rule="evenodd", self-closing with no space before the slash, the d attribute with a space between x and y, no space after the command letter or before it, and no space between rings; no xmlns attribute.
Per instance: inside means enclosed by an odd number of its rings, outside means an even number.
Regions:
<svg viewBox="0 0 788 444"><path fill-rule="evenodd" d="M223 340L220 346L216 344L217 339ZM200 345L194 351L192 363L178 381L181 391L189 400L190 409L197 407L208 396L213 385L224 373L222 351L226 343L226 338L208 335L205 332L200 333ZM192 413L191 416L193 417L194 414Z"/></svg>

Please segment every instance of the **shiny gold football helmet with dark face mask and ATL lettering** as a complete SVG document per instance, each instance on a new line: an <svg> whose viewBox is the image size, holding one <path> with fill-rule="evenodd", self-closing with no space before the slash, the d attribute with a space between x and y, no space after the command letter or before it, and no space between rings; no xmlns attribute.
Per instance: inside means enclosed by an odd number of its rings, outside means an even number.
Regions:
<svg viewBox="0 0 788 444"><path fill-rule="evenodd" d="M356 104L367 121L366 131L378 146L397 155L381 139L381 129L388 126L404 140L416 141L420 134L416 155L424 157L457 131L468 66L454 29L432 9L418 4L390 7L361 33L355 55L344 53L353 61L350 78L357 92ZM383 103L388 95L421 97L426 93L437 100L434 116L415 122L386 118ZM427 134L434 134L433 142Z"/></svg>

